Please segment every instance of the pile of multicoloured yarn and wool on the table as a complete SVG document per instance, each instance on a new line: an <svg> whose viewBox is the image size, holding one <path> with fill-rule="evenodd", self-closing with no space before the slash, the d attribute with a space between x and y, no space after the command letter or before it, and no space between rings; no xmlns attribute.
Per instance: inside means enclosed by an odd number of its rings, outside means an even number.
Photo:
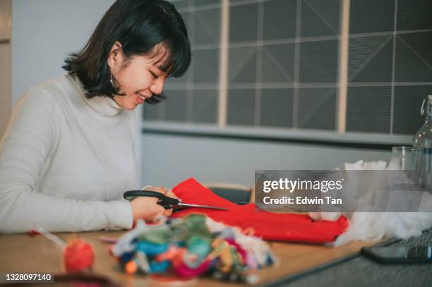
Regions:
<svg viewBox="0 0 432 287"><path fill-rule="evenodd" d="M256 283L251 270L275 262L270 247L239 228L225 226L201 214L166 219L136 228L112 249L128 274L175 274L193 279L204 274L229 281Z"/></svg>

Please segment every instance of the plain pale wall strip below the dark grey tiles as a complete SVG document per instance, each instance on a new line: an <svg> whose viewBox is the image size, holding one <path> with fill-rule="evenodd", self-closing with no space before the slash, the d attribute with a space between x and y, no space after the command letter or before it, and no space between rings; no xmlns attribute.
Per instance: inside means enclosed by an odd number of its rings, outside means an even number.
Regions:
<svg viewBox="0 0 432 287"><path fill-rule="evenodd" d="M359 159L390 159L371 149L256 142L176 135L145 135L140 183L173 186L188 177L202 183L253 185L258 169L334 169Z"/></svg>

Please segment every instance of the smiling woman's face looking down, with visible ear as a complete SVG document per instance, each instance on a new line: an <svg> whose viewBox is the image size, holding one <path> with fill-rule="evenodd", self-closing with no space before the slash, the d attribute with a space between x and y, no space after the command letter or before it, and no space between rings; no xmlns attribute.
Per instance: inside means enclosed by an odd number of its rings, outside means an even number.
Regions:
<svg viewBox="0 0 432 287"><path fill-rule="evenodd" d="M161 56L153 59L148 56L133 56L126 60L121 46L116 49L116 44L108 58L108 64L116 85L125 95L114 96L114 100L123 109L133 110L146 99L150 99L153 94L162 93L167 73L161 71L158 65L163 63L163 59L160 61L160 58L166 53L160 50L164 49L163 47L155 47L161 51L158 53Z"/></svg>

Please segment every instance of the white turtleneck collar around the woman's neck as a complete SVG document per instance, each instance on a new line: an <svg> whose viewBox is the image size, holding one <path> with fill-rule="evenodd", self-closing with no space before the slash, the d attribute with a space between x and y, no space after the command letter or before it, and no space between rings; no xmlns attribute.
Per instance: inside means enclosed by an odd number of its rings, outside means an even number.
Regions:
<svg viewBox="0 0 432 287"><path fill-rule="evenodd" d="M78 88L81 97L84 99L88 107L99 116L112 117L119 114L121 106L119 106L114 99L109 97L92 97L91 99L88 99L88 97L85 97L83 83L81 83L76 76L67 75L67 77Z"/></svg>

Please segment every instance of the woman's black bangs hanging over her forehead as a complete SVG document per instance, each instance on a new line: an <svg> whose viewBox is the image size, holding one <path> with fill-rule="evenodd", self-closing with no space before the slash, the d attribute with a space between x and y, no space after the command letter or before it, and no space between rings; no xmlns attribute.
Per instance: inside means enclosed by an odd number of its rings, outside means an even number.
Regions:
<svg viewBox="0 0 432 287"><path fill-rule="evenodd" d="M147 56L155 59L153 64L169 77L179 78L186 73L191 64L191 50L188 45L188 39L182 39L176 44L171 41L162 42L157 44Z"/></svg>

